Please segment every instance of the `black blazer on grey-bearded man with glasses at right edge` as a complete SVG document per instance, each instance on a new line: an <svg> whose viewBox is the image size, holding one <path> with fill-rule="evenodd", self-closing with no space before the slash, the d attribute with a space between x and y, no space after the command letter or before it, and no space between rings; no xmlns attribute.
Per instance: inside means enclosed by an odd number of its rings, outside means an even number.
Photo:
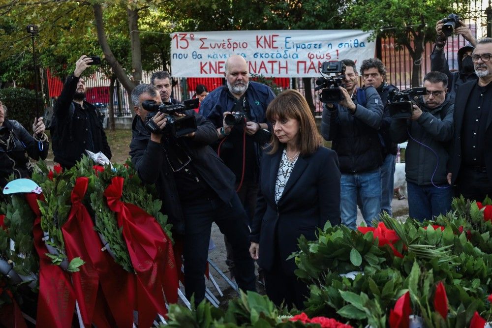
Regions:
<svg viewBox="0 0 492 328"><path fill-rule="evenodd" d="M451 172L451 184L455 184L456 178L458 178L458 173L461 167L461 129L463 123L463 115L466 109L466 104L468 98L470 97L471 90L475 86L477 81L470 81L462 84L458 87L456 91L455 100L455 115L454 115L454 125L455 125L455 135L453 138L453 148L450 153L450 164L449 169ZM491 109L489 106L487 109ZM492 149L492 115L489 114L487 119L487 127L485 130L485 149ZM487 175L489 176L489 181L492 181L492 151L485 152L485 167L487 168Z"/></svg>

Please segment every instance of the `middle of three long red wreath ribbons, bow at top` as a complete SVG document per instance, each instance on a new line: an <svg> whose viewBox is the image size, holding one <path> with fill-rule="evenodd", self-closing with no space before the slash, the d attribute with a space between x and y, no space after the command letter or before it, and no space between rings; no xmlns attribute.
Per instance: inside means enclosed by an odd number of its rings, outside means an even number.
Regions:
<svg viewBox="0 0 492 328"><path fill-rule="evenodd" d="M62 226L68 260L80 257L86 262L79 272L72 273L82 319L86 327L90 327L92 322L97 327L109 328L114 323L118 327L131 327L133 305L128 299L134 297L133 274L116 264L108 252L101 251L101 239L94 230L89 212L82 204L88 184L87 177L75 181L70 197L72 208ZM99 291L99 283L102 293ZM121 297L123 294L124 298ZM105 311L106 305L109 311Z"/></svg>

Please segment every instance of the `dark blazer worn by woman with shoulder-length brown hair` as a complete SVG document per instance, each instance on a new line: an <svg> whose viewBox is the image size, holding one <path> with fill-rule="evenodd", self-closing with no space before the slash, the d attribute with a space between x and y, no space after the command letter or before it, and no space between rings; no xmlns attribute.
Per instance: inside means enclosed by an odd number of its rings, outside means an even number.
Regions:
<svg viewBox="0 0 492 328"><path fill-rule="evenodd" d="M260 192L250 240L260 243L258 265L272 270L276 252L285 260L299 250L297 239L316 239L316 227L326 221L340 223L340 170L337 153L320 147L311 155L299 156L282 197L275 203L275 182L283 147L261 159ZM293 274L294 260L282 261L285 273Z"/></svg>

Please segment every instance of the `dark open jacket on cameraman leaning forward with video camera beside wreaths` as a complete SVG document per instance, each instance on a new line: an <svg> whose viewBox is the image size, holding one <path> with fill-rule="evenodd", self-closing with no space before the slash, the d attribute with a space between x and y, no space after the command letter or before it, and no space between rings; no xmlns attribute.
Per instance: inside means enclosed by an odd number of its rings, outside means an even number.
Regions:
<svg viewBox="0 0 492 328"><path fill-rule="evenodd" d="M233 188L236 178L215 151L209 147L217 140L214 124L194 110L185 111L184 114L195 116L197 125L195 136L193 138L182 137L176 142L181 143L186 149L191 158L191 163L205 182L224 203L229 204L236 194ZM133 118L131 131L129 155L138 176L144 183L155 183L159 198L163 202L163 212L168 215L170 223L173 223L175 229L179 231L182 227L176 227L176 225L179 226L183 220L183 209L178 196L174 173L165 158L163 146L150 140L150 132L145 128L139 116Z"/></svg>

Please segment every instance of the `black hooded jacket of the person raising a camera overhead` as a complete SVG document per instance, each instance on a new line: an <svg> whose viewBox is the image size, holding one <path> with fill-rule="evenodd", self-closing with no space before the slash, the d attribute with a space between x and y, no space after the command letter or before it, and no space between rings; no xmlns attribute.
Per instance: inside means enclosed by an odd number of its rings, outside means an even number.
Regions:
<svg viewBox="0 0 492 328"><path fill-rule="evenodd" d="M463 83L478 79L477 75L474 72L466 73L463 72L462 68L462 59L464 52L473 49L474 47L471 44L468 44L458 50L458 72L451 72L449 70L448 61L446 60L446 56L444 56L444 48L438 50L434 45L434 49L432 50L431 71L446 74L446 76L448 77L448 94L450 96L450 100L453 103L456 98L456 89L458 88L458 86L461 86Z"/></svg>

